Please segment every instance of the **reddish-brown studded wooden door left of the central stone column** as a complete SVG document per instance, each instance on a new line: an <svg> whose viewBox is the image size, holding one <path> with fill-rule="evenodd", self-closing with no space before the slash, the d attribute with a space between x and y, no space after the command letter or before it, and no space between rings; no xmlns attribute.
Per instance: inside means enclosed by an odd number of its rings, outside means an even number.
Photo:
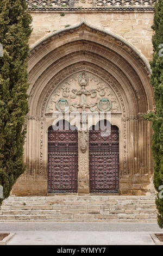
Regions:
<svg viewBox="0 0 163 256"><path fill-rule="evenodd" d="M66 122L66 121L65 121ZM68 122L67 122L68 123ZM62 130L48 130L48 192L77 192L78 132L68 123Z"/></svg>

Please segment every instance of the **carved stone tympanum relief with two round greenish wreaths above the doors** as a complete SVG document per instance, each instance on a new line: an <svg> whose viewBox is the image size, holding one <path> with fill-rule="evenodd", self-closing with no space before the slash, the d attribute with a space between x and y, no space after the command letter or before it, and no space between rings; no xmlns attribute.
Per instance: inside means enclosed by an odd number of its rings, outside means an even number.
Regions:
<svg viewBox="0 0 163 256"><path fill-rule="evenodd" d="M46 113L55 111L121 113L121 108L108 84L89 72L81 71L67 78L51 95Z"/></svg>

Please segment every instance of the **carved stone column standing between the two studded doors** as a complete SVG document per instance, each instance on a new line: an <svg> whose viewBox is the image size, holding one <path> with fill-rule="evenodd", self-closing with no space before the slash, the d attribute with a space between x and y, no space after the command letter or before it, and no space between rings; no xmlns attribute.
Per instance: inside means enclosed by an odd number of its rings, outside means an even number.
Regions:
<svg viewBox="0 0 163 256"><path fill-rule="evenodd" d="M79 131L78 194L89 194L89 132Z"/></svg>

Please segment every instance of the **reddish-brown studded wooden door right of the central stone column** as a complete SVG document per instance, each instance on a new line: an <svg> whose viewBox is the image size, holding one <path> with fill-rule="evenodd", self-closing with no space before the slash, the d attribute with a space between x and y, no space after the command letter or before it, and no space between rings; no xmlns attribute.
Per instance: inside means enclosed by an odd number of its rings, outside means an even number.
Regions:
<svg viewBox="0 0 163 256"><path fill-rule="evenodd" d="M119 133L117 126L111 132L92 127L89 131L90 192L118 192Z"/></svg>

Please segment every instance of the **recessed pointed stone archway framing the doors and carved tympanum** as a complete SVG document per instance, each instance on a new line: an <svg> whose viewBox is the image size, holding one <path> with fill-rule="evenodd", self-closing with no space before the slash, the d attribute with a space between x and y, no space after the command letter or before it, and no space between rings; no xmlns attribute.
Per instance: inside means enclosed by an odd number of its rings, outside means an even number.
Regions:
<svg viewBox="0 0 163 256"><path fill-rule="evenodd" d="M13 192L47 194L47 131L54 121L48 107L62 84L86 72L106 84L118 103L118 112L112 109L111 123L120 130L120 193L145 194L152 177L152 129L141 114L154 109L150 70L145 58L122 38L82 22L53 33L35 45L28 63L31 95L25 147L28 167ZM98 84L95 85L97 88ZM61 88L60 93L63 92ZM66 95L66 90L64 93ZM103 97L98 96L96 105ZM61 94L57 101L60 98ZM89 193L88 149L81 155L78 192Z"/></svg>

